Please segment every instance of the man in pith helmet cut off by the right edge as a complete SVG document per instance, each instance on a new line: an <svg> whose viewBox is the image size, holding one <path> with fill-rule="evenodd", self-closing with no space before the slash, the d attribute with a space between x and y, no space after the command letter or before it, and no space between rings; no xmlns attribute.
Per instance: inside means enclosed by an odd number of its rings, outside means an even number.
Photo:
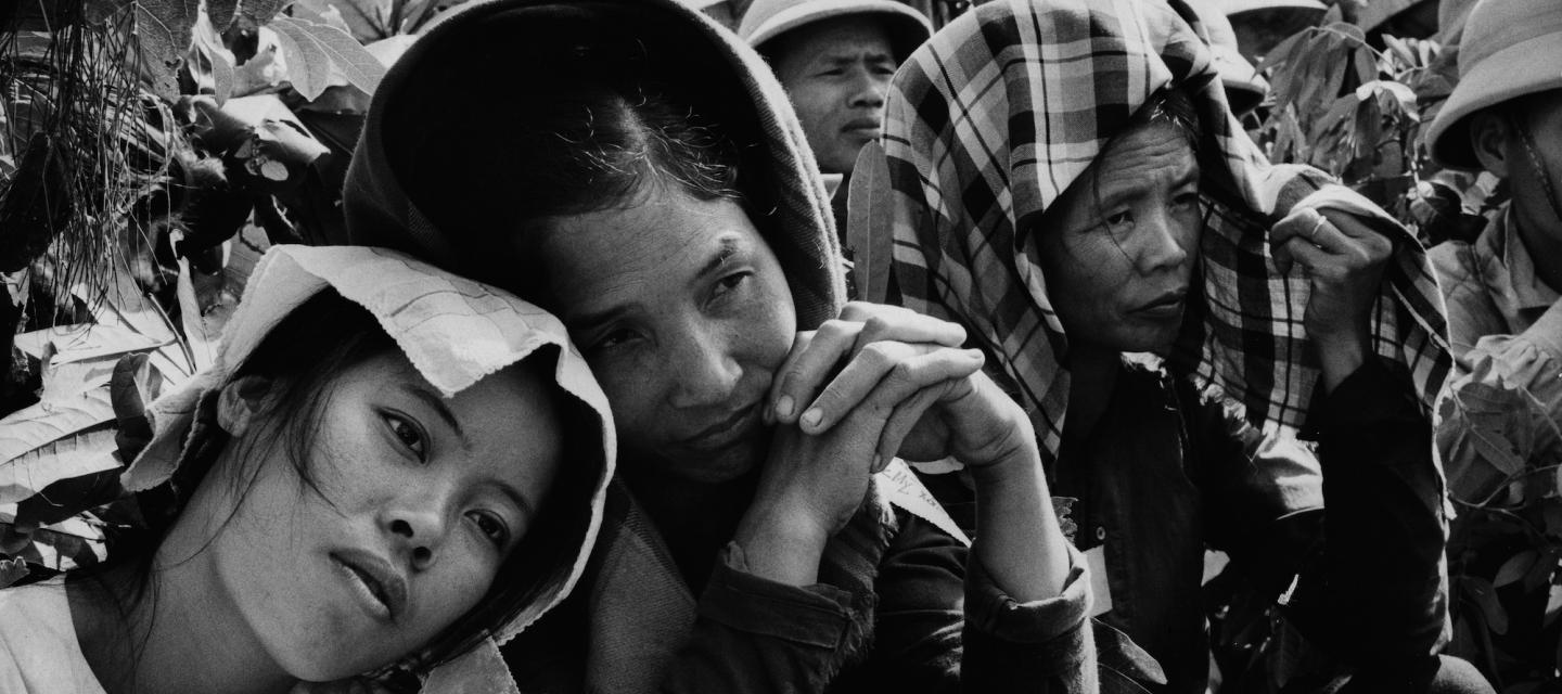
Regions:
<svg viewBox="0 0 1562 694"><path fill-rule="evenodd" d="M1562 3L1470 9L1459 84L1428 142L1437 163L1492 172L1512 194L1475 242L1431 252L1457 360L1437 439L1451 495L1479 500L1509 480L1493 458L1562 460L1546 425L1562 422Z"/></svg>

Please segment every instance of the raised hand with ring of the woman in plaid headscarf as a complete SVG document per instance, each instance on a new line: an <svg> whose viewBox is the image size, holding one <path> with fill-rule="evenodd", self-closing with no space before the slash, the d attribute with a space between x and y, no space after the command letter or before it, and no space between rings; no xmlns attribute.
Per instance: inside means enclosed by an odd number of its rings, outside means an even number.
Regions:
<svg viewBox="0 0 1562 694"><path fill-rule="evenodd" d="M1311 299L1303 317L1317 345L1325 388L1332 391L1370 353L1368 333L1384 264L1393 241L1348 213L1295 209L1270 231L1275 267L1307 270Z"/></svg>

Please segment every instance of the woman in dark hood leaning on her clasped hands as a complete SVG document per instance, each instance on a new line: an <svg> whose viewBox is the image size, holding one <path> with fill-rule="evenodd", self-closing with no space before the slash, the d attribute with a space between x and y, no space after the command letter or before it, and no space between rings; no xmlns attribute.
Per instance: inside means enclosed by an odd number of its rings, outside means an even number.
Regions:
<svg viewBox="0 0 1562 694"><path fill-rule="evenodd" d="M506 658L539 691L1093 689L1023 411L958 327L842 308L803 142L673 0L475 5L375 94L351 241L556 311L623 441L587 588ZM970 550L897 455L976 469Z"/></svg>

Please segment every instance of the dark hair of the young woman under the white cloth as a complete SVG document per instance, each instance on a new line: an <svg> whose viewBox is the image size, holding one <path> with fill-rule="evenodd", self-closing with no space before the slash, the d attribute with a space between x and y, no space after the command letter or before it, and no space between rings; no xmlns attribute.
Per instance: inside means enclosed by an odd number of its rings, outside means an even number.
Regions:
<svg viewBox="0 0 1562 694"><path fill-rule="evenodd" d="M334 395L339 374L392 352L400 353L375 317L334 291L326 289L301 303L234 369L233 378L247 375L269 378L275 394L267 400L267 410L259 413L262 433L247 436L242 444L245 449L237 458L258 460L253 445L284 445L300 481L319 492L311 477L314 442L322 413ZM544 381L551 385L550 369L556 356L539 352L528 356L523 364L540 372ZM412 685L408 671L422 671L448 661L506 624L544 592L551 569L573 561L575 552L584 544L595 472L604 463L600 444L601 422L595 411L562 389L553 386L550 392L564 425L564 450L558 477L537 517L500 566L483 600L425 644L422 652L400 653L400 660L384 671L387 675L400 674L390 677L389 685ZM195 431L191 436L195 444L186 460L178 463L169 483L137 495L139 506L147 514L147 528L119 536L111 547L111 560L94 567L92 575L102 577L114 566L133 566L134 583L127 586L128 600L147 597L145 589L152 585L147 578L158 546L183 513L195 488L208 481L208 472L219 455L233 442L231 436L216 427L214 405L211 399L197 416ZM255 469L234 466L225 474L226 478L209 481L233 485L234 497L242 503Z"/></svg>

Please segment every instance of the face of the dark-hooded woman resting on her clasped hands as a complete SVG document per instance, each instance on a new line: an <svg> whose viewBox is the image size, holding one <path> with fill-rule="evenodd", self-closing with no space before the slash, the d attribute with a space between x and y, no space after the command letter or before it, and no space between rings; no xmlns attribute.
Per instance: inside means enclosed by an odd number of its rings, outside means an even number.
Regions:
<svg viewBox="0 0 1562 694"><path fill-rule="evenodd" d="M551 308L608 394L631 472L715 483L762 463L761 402L797 314L736 202L653 184L555 220L542 252Z"/></svg>

